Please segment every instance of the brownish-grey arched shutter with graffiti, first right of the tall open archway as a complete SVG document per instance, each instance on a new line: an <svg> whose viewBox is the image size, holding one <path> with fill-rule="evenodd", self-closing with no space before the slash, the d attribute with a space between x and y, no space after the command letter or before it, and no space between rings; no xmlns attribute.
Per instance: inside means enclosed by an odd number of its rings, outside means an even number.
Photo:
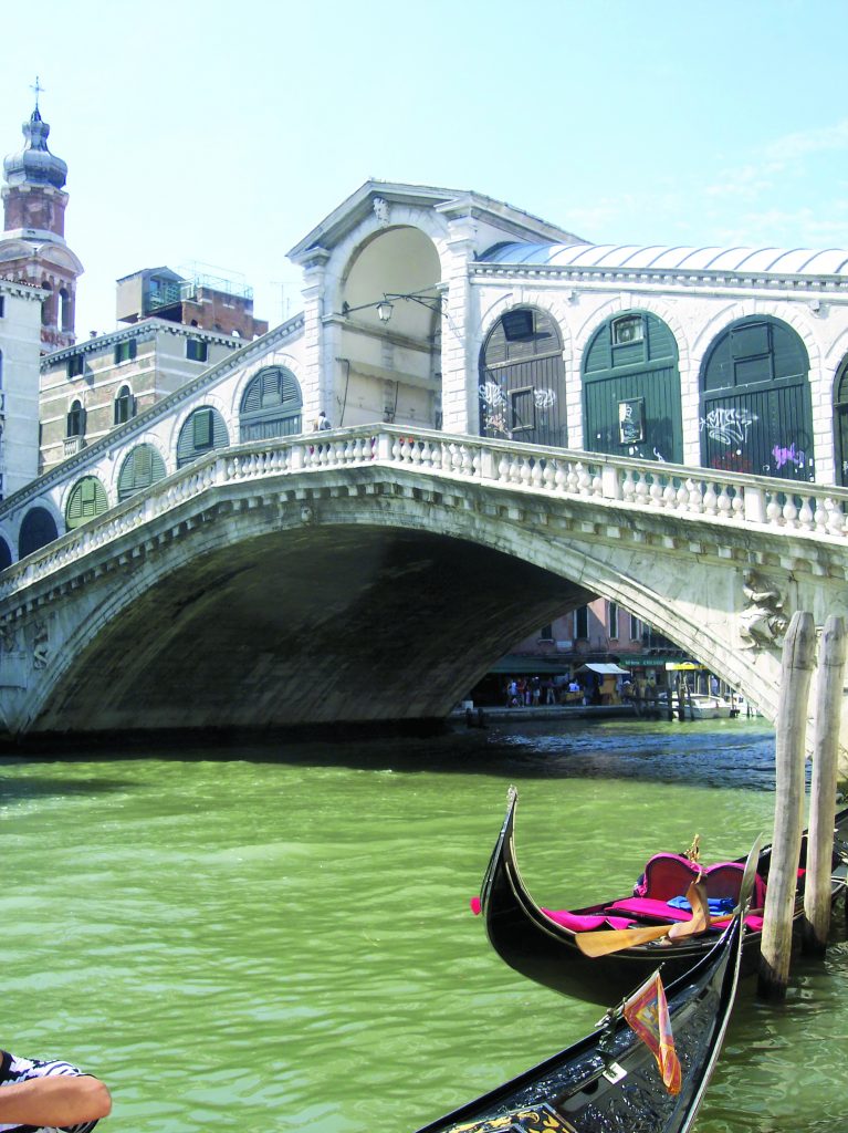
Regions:
<svg viewBox="0 0 848 1133"><path fill-rule="evenodd" d="M480 352L480 435L567 444L563 339L536 307L505 312Z"/></svg>

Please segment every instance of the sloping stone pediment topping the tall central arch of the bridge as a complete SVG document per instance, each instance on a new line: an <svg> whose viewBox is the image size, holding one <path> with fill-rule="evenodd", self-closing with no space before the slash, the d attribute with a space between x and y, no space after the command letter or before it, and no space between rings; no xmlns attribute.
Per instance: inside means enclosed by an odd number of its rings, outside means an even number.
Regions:
<svg viewBox="0 0 848 1133"><path fill-rule="evenodd" d="M579 241L577 237L555 224L468 189L369 180L295 244L288 256L302 265L320 252L329 253L371 215L377 218L378 223L388 227L393 206L432 208L448 222L473 216L513 239L557 244Z"/></svg>

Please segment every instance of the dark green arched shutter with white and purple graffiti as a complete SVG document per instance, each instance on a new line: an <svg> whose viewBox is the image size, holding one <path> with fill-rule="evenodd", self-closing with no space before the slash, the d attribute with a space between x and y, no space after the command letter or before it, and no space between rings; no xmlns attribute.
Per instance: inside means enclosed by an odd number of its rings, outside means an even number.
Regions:
<svg viewBox="0 0 848 1133"><path fill-rule="evenodd" d="M740 318L701 369L701 462L726 471L813 479L810 359L777 318Z"/></svg>

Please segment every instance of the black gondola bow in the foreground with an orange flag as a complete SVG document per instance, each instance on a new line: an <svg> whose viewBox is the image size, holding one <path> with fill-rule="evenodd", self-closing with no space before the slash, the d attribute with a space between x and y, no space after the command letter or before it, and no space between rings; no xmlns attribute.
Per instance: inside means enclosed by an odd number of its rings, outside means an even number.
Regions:
<svg viewBox="0 0 848 1133"><path fill-rule="evenodd" d="M686 1133L727 1028L742 955L736 914L710 952L666 989L679 1092L663 1084L653 1053L623 1005L585 1038L418 1133Z"/></svg>

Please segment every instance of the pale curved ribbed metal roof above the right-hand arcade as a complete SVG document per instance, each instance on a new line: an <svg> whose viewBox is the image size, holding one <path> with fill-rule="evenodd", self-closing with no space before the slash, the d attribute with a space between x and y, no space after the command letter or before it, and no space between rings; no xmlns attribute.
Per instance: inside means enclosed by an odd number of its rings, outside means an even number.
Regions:
<svg viewBox="0 0 848 1133"><path fill-rule="evenodd" d="M498 244L479 261L632 271L774 272L781 275L841 275L848 249L668 247L658 244Z"/></svg>

